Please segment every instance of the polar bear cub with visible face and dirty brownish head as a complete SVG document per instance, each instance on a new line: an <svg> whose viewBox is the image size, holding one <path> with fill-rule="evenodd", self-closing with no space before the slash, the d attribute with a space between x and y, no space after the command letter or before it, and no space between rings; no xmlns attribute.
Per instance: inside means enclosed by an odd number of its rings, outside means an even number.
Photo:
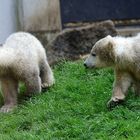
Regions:
<svg viewBox="0 0 140 140"><path fill-rule="evenodd" d="M132 84L140 95L140 34L127 38L107 36L97 41L84 65L114 68L115 81L108 107L121 103Z"/></svg>

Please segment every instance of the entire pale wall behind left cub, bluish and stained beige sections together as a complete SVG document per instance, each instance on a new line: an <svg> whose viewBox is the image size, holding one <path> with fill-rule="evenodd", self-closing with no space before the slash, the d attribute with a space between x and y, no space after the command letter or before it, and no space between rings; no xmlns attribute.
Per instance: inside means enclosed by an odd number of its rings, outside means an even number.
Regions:
<svg viewBox="0 0 140 140"><path fill-rule="evenodd" d="M1 0L0 44L19 30L43 31L53 38L61 30L59 0Z"/></svg>

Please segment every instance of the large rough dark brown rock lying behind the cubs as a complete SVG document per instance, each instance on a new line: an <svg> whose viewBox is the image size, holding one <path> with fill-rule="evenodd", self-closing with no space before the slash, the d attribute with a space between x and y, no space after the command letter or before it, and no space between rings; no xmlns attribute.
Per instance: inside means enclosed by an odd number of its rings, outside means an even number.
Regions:
<svg viewBox="0 0 140 140"><path fill-rule="evenodd" d="M46 46L48 62L52 65L62 59L78 60L90 53L95 42L107 35L117 35L111 20L64 29Z"/></svg>

